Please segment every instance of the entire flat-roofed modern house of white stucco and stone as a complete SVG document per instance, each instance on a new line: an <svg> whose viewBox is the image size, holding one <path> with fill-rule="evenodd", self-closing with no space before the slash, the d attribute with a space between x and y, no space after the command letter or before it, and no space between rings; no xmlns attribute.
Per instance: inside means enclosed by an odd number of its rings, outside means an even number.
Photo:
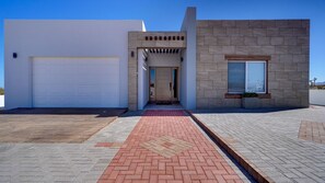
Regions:
<svg viewBox="0 0 325 183"><path fill-rule="evenodd" d="M5 108L309 106L309 20L4 21Z"/></svg>

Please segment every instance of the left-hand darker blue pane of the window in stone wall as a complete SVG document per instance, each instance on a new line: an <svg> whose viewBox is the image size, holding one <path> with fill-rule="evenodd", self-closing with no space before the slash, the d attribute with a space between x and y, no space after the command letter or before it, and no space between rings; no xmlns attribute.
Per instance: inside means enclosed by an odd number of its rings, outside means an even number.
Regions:
<svg viewBox="0 0 325 183"><path fill-rule="evenodd" d="M228 62L228 92L245 91L245 62Z"/></svg>

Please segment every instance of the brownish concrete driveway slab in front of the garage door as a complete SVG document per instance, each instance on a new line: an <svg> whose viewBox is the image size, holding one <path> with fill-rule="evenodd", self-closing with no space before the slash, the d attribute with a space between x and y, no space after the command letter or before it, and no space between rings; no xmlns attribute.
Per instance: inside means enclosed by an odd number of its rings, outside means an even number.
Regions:
<svg viewBox="0 0 325 183"><path fill-rule="evenodd" d="M125 110L26 108L0 112L0 142L83 142Z"/></svg>

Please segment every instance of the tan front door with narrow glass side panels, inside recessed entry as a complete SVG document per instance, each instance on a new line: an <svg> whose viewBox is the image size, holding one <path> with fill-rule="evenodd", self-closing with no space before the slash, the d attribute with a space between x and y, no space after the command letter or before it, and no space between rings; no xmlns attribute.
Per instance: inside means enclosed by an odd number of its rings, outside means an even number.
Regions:
<svg viewBox="0 0 325 183"><path fill-rule="evenodd" d="M178 103L179 77L177 67L150 67L150 103Z"/></svg>

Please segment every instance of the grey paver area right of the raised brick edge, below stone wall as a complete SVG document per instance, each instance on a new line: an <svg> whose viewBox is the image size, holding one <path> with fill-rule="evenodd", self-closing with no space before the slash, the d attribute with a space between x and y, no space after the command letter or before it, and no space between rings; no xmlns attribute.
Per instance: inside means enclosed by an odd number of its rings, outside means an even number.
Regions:
<svg viewBox="0 0 325 183"><path fill-rule="evenodd" d="M194 115L275 182L325 182L325 107Z"/></svg>

